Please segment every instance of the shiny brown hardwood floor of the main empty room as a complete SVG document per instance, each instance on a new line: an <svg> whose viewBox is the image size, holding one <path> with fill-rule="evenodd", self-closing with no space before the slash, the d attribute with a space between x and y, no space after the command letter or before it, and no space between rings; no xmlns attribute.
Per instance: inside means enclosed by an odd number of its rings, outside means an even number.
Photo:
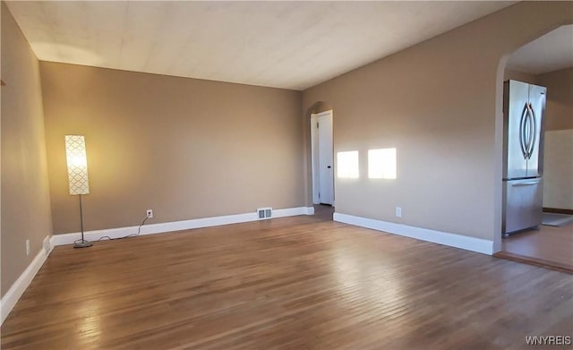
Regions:
<svg viewBox="0 0 573 350"><path fill-rule="evenodd" d="M571 275L317 215L56 247L1 346L520 349L572 329Z"/></svg>

